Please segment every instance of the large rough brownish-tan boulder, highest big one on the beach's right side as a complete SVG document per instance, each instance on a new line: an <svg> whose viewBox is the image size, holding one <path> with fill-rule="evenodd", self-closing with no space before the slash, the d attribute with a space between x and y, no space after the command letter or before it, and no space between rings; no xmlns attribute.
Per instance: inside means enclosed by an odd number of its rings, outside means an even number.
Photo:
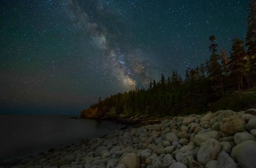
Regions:
<svg viewBox="0 0 256 168"><path fill-rule="evenodd" d="M237 116L230 116L225 123L221 125L221 132L227 135L234 135L237 132L245 131L245 121Z"/></svg>

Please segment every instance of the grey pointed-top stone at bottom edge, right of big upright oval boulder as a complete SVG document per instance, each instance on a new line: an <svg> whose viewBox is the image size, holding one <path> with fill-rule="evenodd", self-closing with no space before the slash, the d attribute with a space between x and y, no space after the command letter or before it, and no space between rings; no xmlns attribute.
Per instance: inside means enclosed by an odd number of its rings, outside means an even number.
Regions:
<svg viewBox="0 0 256 168"><path fill-rule="evenodd" d="M225 151L221 151L217 157L218 168L236 168L235 161Z"/></svg>

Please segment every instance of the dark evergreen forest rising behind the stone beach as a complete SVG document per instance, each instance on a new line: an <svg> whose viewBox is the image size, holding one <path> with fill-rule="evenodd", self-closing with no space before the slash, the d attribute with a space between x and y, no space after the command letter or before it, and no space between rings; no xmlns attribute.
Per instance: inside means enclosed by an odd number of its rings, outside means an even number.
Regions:
<svg viewBox="0 0 256 168"><path fill-rule="evenodd" d="M250 1L249 11L246 41L234 38L229 53L225 49L218 52L216 37L211 36L210 59L194 69L188 68L184 79L177 70L167 78L162 74L160 81L150 80L148 89L142 87L117 93L103 101L99 100L91 108L98 107L102 115L114 111L116 115L163 116L205 112L217 106L233 110L255 106L255 90L248 92L252 94L241 92L256 84L255 0ZM235 91L238 94L234 94Z"/></svg>

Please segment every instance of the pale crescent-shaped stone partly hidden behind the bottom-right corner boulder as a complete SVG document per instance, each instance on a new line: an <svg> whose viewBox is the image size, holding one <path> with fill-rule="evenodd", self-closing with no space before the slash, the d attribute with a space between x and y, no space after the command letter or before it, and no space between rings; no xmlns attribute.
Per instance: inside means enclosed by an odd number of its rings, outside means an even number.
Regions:
<svg viewBox="0 0 256 168"><path fill-rule="evenodd" d="M244 142L236 145L231 150L231 154L230 154L230 156L232 157L232 159L234 159L234 161L237 161L237 156L238 156L239 151L241 151L241 149L243 149L245 147L256 148L256 142L253 140L247 140L247 141L244 141Z"/></svg>

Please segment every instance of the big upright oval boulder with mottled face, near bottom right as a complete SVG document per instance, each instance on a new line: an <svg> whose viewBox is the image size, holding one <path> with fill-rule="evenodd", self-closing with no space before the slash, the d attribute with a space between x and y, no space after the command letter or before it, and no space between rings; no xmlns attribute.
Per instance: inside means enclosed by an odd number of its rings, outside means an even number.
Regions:
<svg viewBox="0 0 256 168"><path fill-rule="evenodd" d="M221 144L216 139L206 140L197 153L197 161L206 165L208 161L215 160L221 151Z"/></svg>

